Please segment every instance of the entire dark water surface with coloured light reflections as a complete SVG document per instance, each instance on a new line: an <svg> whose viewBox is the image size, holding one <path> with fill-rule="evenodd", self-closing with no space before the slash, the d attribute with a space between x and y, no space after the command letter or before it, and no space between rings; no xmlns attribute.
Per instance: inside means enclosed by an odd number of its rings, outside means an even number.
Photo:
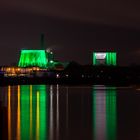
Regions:
<svg viewBox="0 0 140 140"><path fill-rule="evenodd" d="M0 140L140 140L140 90L0 87Z"/></svg>

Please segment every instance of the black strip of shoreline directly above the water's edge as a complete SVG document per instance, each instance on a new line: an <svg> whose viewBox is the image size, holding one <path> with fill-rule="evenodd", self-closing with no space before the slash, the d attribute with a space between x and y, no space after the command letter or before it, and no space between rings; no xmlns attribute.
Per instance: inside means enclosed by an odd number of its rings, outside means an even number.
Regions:
<svg viewBox="0 0 140 140"><path fill-rule="evenodd" d="M131 85L140 85L139 81L126 81L126 80L99 80L99 79L82 79L82 78L47 78L47 77L3 77L0 78L0 86L5 85L106 85L106 86L124 86L128 87Z"/></svg>

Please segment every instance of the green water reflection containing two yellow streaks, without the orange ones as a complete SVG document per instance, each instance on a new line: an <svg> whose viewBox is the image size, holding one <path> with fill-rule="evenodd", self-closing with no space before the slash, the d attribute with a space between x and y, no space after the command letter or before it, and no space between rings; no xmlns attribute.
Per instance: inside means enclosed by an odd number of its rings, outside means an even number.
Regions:
<svg viewBox="0 0 140 140"><path fill-rule="evenodd" d="M48 94L46 85L21 86L21 140L48 139Z"/></svg>

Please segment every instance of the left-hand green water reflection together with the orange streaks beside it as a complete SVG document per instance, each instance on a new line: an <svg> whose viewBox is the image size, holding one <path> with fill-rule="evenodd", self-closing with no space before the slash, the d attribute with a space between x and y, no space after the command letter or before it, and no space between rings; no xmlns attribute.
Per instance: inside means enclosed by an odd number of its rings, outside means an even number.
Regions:
<svg viewBox="0 0 140 140"><path fill-rule="evenodd" d="M46 93L45 85L24 85L17 86L16 90L11 91L11 86L8 86L8 139L12 136L17 140L20 139L48 139L48 94ZM17 96L11 100L14 92ZM12 94L12 96L11 96ZM17 113L11 115L12 102L17 100ZM13 108L13 110L16 110ZM16 116L17 115L17 116ZM13 122L16 121L16 136L12 132Z"/></svg>

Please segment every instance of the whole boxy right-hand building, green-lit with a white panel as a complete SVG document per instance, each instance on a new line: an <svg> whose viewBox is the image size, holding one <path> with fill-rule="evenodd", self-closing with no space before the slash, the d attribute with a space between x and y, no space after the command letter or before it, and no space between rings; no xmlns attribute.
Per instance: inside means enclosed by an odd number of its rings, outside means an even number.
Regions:
<svg viewBox="0 0 140 140"><path fill-rule="evenodd" d="M116 52L93 52L93 65L117 65Z"/></svg>

